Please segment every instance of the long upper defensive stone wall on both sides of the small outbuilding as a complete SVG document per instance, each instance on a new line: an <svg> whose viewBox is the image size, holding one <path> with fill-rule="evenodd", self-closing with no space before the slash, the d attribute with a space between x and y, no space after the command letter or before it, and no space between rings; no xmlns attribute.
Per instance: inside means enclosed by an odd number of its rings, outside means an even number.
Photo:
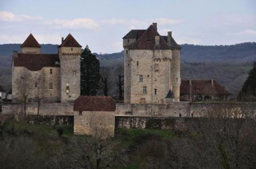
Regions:
<svg viewBox="0 0 256 169"><path fill-rule="evenodd" d="M2 104L2 105L1 105ZM116 116L156 116L156 117L201 117L208 108L216 106L240 106L254 111L256 103L190 103L170 104L116 104ZM24 103L0 103L0 114L24 114ZM27 103L27 115L37 115L37 103ZM40 103L39 115L74 115L74 103ZM244 108L244 109L245 109Z"/></svg>

